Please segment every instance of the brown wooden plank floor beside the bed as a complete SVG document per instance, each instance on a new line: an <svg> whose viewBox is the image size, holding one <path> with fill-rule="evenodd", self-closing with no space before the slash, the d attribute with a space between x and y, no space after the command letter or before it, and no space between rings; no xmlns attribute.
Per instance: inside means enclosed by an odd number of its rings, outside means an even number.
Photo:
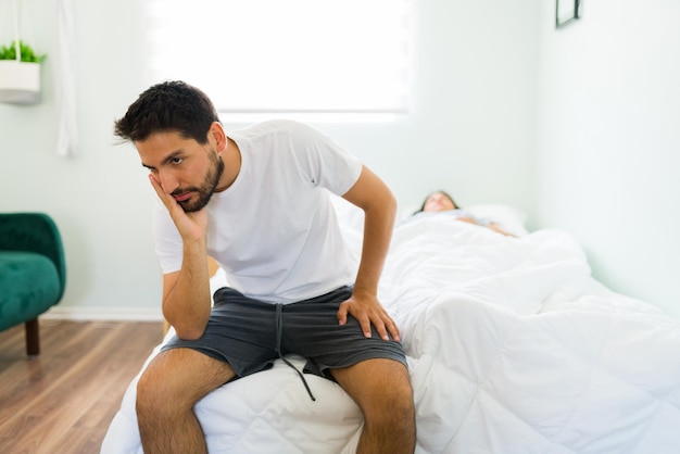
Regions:
<svg viewBox="0 0 680 454"><path fill-rule="evenodd" d="M0 332L0 453L96 454L123 393L163 338L162 323L40 320Z"/></svg>

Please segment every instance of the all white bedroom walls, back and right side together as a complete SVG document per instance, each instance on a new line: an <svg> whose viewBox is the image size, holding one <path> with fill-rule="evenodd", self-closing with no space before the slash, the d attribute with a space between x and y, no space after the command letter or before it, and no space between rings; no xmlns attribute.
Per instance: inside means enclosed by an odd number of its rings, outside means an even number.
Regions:
<svg viewBox="0 0 680 454"><path fill-rule="evenodd" d="M27 37L52 54L54 2L23 0ZM73 4L80 153L54 155L48 59L41 104L0 104L0 210L56 219L70 273L61 311L159 317L153 196L134 149L111 134L147 88L141 2ZM533 228L571 231L609 287L680 316L680 3L584 0L561 30L552 0L413 4L411 114L318 126L402 205L435 188L463 204L515 204Z"/></svg>

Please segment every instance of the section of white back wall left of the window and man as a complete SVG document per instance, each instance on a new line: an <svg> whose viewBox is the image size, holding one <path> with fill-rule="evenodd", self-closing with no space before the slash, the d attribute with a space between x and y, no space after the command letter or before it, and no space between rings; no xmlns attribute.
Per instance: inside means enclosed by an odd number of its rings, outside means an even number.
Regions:
<svg viewBox="0 0 680 454"><path fill-rule="evenodd" d="M60 310L160 316L160 273L149 228L152 196L133 149L114 146L113 119L140 91L143 51L136 0L73 1L80 152L56 157L50 54L55 1L23 0L28 37L47 52L43 102L0 104L0 210L45 211L58 223L67 286Z"/></svg>

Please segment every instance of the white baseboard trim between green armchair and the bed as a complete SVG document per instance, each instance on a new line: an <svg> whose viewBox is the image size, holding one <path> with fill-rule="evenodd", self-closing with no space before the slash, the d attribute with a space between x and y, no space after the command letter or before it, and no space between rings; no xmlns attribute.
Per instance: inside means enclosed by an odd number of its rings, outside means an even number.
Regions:
<svg viewBox="0 0 680 454"><path fill-rule="evenodd" d="M163 321L163 314L160 308L55 306L40 318L78 321Z"/></svg>

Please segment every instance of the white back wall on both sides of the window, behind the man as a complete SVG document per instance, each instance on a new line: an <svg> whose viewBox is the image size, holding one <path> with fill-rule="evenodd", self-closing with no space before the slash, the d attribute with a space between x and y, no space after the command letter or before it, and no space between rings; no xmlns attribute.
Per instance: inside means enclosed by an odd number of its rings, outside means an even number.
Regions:
<svg viewBox="0 0 680 454"><path fill-rule="evenodd" d="M55 0L23 3L34 47L53 53ZM68 266L62 313L160 317L153 196L137 153L112 136L113 121L147 88L141 3L72 1L78 156L54 155L49 58L41 104L0 104L0 210L55 218ZM403 205L443 188L462 204L502 201L532 214L539 9L538 0L509 3L414 1L412 113L392 124L318 125L380 174Z"/></svg>

